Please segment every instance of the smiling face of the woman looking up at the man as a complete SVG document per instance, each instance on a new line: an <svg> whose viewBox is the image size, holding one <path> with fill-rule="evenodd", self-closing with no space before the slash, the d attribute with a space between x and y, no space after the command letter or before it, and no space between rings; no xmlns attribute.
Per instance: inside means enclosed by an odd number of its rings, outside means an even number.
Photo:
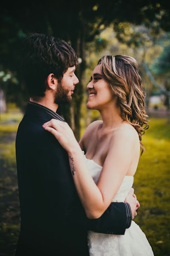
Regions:
<svg viewBox="0 0 170 256"><path fill-rule="evenodd" d="M101 110L109 102L113 101L110 84L104 79L99 65L94 68L87 89L89 91L88 102L86 104L88 109Z"/></svg>

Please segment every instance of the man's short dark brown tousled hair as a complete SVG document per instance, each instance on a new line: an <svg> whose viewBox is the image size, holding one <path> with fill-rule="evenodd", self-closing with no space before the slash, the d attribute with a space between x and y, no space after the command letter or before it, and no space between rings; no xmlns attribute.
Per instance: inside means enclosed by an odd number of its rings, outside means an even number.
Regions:
<svg viewBox="0 0 170 256"><path fill-rule="evenodd" d="M33 33L23 41L20 78L33 99L45 95L50 73L60 81L68 67L77 64L74 49L62 39Z"/></svg>

